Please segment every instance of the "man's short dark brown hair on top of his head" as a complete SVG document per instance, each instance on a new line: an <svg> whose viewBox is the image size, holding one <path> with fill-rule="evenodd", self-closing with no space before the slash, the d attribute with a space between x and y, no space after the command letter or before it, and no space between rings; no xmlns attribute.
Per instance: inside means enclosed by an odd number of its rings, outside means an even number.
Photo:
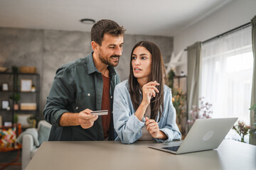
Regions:
<svg viewBox="0 0 256 170"><path fill-rule="evenodd" d="M101 45L105 33L118 37L119 35L124 35L124 32L123 26L119 26L112 20L102 19L92 26L91 40Z"/></svg>

